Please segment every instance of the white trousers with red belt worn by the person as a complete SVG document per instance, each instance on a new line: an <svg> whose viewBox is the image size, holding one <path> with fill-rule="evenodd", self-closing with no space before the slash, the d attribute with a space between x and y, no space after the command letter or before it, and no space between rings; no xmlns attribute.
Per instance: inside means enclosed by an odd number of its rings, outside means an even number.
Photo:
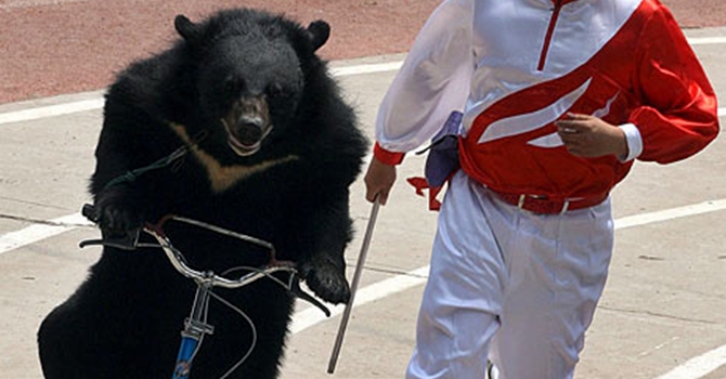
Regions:
<svg viewBox="0 0 726 379"><path fill-rule="evenodd" d="M610 200L535 214L459 171L439 214L409 379L572 378L612 253ZM490 349L491 348L491 349Z"/></svg>

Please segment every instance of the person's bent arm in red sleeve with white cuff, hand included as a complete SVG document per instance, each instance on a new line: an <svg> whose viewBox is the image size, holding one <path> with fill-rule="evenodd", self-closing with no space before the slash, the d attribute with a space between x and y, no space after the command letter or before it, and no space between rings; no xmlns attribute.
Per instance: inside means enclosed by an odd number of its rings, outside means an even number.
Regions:
<svg viewBox="0 0 726 379"><path fill-rule="evenodd" d="M657 10L648 19L636 60L634 90L643 104L621 126L587 115L557 121L570 153L667 164L698 153L716 136L716 96L667 9Z"/></svg>

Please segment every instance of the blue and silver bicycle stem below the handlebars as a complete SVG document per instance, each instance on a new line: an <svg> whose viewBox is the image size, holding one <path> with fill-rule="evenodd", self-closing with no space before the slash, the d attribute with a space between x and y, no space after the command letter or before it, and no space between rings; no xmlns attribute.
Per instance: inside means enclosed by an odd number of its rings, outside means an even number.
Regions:
<svg viewBox="0 0 726 379"><path fill-rule="evenodd" d="M212 288L211 273L205 273L205 280L199 280L194 295L192 312L184 321L182 340L177 355L177 365L171 379L189 379L192 369L192 361L199 350L199 344L205 335L211 335L215 327L207 324L207 309L209 306L209 292Z"/></svg>

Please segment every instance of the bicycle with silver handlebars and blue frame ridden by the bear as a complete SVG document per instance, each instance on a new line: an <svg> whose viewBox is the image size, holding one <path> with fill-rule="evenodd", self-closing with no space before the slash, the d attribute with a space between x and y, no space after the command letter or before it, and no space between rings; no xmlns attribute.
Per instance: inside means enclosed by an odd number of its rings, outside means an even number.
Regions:
<svg viewBox="0 0 726 379"><path fill-rule="evenodd" d="M98 223L98 220L94 219L95 213L93 206L88 204L85 205L81 213L90 221ZM194 270L187 265L183 253L179 249L173 247L170 238L164 233L164 225L168 221L177 221L185 223L187 225L206 228L208 231L221 235L234 237L243 241L262 247L269 251L270 254L269 262L263 267L248 267L248 266L233 267L220 275L213 273L212 271ZM152 236L154 239L156 239L158 245L140 241L141 232ZM272 244L259 238L236 233L202 221L169 214L161 218L156 224L145 223L144 226L141 227L140 230L130 231L126 234L114 235L114 236L104 235L103 238L101 239L86 239L82 240L79 245L81 248L88 246L102 245L102 246L115 247L122 250L135 250L137 248L150 248L150 247L161 248L161 250L166 253L166 257L168 258L173 269L176 269L176 271L182 276L196 283L197 287L194 296L194 301L192 303L192 310L190 312L189 317L184 321L184 327L181 331L182 339L179 345L179 353L177 355L177 363L173 368L172 379L190 378L190 371L192 369L193 361L196 357L196 354L199 351L202 343L204 342L205 336L213 334L213 326L207 323L209 300L211 298L220 301L222 304L239 314L241 317L244 318L250 325L252 330L252 341L250 348L247 350L247 352L245 352L245 354L242 356L242 358L239 358L239 361L237 361L229 370L226 370L226 373L220 379L224 379L229 377L232 373L234 373L249 357L252 350L255 349L257 342L257 331L255 328L255 324L244 313L244 311L239 310L234 304L224 300L219 295L213 293L212 289L215 287L239 289L256 280L262 278L269 278L274 283L278 284L280 286L284 287L285 289L287 289L290 293L293 293L297 298L306 300L312 303L313 305L317 306L327 316L330 315L329 310L325 308L325 305L323 305L320 301L317 301L311 295L304 292L300 288L300 276L298 275L296 264L290 261L280 261L275 258L275 249ZM229 275L231 272L238 270L247 270L250 272L245 275L242 275L236 279L229 278L225 276ZM274 273L280 272L289 274L287 282L284 282L283 279L273 275Z"/></svg>

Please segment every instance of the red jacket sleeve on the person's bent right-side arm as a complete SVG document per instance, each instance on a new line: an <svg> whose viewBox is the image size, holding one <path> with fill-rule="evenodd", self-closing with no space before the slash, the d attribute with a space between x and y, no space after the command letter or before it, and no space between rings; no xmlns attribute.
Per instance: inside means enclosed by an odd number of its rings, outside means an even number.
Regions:
<svg viewBox="0 0 726 379"><path fill-rule="evenodd" d="M669 164L703 149L718 133L716 96L673 15L661 6L639 38L631 114L643 138L640 160Z"/></svg>

